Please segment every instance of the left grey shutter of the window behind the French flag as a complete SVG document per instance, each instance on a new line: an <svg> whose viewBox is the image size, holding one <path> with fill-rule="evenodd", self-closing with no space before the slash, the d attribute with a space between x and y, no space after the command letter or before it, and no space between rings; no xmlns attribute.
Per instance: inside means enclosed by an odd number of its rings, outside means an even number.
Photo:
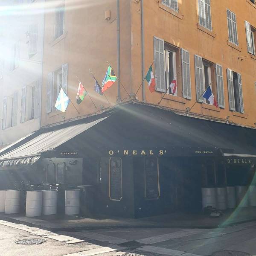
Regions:
<svg viewBox="0 0 256 256"><path fill-rule="evenodd" d="M204 102L204 99L199 97L204 93L204 75L203 75L203 58L195 55L195 85L196 99L198 102Z"/></svg>

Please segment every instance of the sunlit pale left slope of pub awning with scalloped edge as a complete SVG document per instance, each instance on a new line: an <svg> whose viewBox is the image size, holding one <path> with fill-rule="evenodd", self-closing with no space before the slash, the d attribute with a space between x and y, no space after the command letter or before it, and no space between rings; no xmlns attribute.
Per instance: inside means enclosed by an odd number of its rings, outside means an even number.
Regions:
<svg viewBox="0 0 256 256"><path fill-rule="evenodd" d="M43 152L55 150L61 144L90 129L108 117L44 132L27 143L0 156L0 167L35 164Z"/></svg>

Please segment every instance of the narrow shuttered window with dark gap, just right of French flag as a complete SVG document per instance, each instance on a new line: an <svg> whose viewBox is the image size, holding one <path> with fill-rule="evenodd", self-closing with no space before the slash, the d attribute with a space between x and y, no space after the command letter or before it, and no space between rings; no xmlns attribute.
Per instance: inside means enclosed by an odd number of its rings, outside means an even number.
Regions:
<svg viewBox="0 0 256 256"><path fill-rule="evenodd" d="M227 69L227 82L230 110L244 113L241 74Z"/></svg>

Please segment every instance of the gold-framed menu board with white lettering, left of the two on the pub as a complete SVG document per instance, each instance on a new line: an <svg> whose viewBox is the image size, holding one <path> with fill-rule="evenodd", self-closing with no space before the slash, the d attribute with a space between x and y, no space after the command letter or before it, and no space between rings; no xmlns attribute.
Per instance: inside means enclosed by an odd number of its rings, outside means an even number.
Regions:
<svg viewBox="0 0 256 256"><path fill-rule="evenodd" d="M109 198L120 201L122 199L122 159L111 157L109 161Z"/></svg>

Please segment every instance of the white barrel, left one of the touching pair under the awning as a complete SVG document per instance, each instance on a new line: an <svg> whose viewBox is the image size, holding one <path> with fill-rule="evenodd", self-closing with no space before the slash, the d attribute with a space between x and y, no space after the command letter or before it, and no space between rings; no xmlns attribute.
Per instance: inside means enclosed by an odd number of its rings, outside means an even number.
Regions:
<svg viewBox="0 0 256 256"><path fill-rule="evenodd" d="M37 217L42 215L43 191L33 190L26 193L26 217Z"/></svg>

